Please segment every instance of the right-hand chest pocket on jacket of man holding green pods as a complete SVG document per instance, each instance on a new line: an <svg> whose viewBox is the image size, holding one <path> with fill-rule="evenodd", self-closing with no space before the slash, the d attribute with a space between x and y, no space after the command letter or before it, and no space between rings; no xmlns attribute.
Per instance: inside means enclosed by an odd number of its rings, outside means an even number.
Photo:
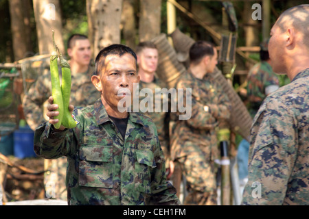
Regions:
<svg viewBox="0 0 309 219"><path fill-rule="evenodd" d="M137 192L150 194L151 169L156 167L152 151L135 150L134 188Z"/></svg>

